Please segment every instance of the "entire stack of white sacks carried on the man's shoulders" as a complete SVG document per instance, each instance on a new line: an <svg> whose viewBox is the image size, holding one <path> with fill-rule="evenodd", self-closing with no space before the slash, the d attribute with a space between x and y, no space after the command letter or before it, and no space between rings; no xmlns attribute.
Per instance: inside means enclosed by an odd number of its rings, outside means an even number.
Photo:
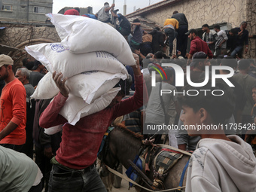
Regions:
<svg viewBox="0 0 256 192"><path fill-rule="evenodd" d="M114 85L128 77L123 64L132 66L136 62L126 40L108 24L87 17L47 15L62 42L26 47L26 51L49 71L32 98L56 96L59 89L52 73L62 72L63 77L68 78L66 85L70 94L59 114L75 125L81 117L110 104L120 90L113 88Z"/></svg>

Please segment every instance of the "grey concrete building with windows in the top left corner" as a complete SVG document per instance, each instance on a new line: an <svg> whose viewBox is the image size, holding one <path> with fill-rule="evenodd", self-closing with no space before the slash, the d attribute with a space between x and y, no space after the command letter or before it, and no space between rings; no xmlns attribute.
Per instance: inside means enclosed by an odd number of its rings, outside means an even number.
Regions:
<svg viewBox="0 0 256 192"><path fill-rule="evenodd" d="M41 23L53 10L53 0L0 0L0 20Z"/></svg>

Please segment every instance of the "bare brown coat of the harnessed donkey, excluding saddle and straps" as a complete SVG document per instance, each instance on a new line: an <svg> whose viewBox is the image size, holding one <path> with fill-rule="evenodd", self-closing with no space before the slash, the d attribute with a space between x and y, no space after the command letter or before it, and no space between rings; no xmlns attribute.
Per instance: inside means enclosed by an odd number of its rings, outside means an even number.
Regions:
<svg viewBox="0 0 256 192"><path fill-rule="evenodd" d="M107 153L105 153L104 163L114 168L117 166L117 163L121 163L126 169L130 167L128 160L134 160L136 155L139 154L139 149L143 147L142 142L143 136L135 134L132 131L126 129L124 126L118 125L115 126L114 130L111 131L108 135L108 142L106 148L108 148ZM106 148L104 150L106 150ZM181 179L181 174L183 172L184 166L189 160L190 156L183 155L181 159L173 166L165 180L163 181L166 189L172 189L178 187L178 184ZM153 165L150 167L150 172L148 178L151 181L154 180L154 168ZM184 175L184 180L182 186L186 184L187 172ZM146 185L143 185L146 187ZM142 190L144 191L144 190Z"/></svg>

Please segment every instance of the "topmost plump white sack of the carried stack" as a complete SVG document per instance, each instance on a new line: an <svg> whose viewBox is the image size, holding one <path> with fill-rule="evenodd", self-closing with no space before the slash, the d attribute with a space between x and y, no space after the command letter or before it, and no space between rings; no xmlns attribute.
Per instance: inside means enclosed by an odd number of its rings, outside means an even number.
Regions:
<svg viewBox="0 0 256 192"><path fill-rule="evenodd" d="M103 50L113 54L124 65L136 65L126 39L114 27L87 17L46 14L56 27L62 45L72 53Z"/></svg>

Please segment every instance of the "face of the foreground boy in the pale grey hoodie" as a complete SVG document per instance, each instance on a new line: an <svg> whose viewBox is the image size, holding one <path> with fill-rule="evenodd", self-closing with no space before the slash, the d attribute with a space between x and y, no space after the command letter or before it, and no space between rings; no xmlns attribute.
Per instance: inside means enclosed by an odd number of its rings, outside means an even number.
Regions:
<svg viewBox="0 0 256 192"><path fill-rule="evenodd" d="M181 114L180 120L184 123L184 126L197 126L201 125L200 111L194 112L193 108L183 105L183 113ZM189 136L197 136L199 133L197 130L187 129Z"/></svg>

